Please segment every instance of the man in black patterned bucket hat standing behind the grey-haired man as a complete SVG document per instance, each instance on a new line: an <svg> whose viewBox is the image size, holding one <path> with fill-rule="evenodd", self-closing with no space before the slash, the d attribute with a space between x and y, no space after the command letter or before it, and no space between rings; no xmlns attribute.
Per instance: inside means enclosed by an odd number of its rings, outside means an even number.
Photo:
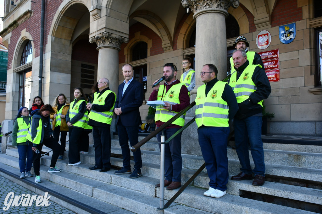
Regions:
<svg viewBox="0 0 322 214"><path fill-rule="evenodd" d="M237 50L244 50L247 54L247 59L249 61L249 63L251 63L252 65L261 65L261 67L264 69L264 64L263 61L260 57L260 55L258 53L256 53L255 51L249 51L247 48L249 47L249 43L246 39L246 37L243 36L239 36L237 37L235 43L234 43L234 47ZM230 65L231 65L231 73L234 72L234 63L232 61L232 57L230 58Z"/></svg>

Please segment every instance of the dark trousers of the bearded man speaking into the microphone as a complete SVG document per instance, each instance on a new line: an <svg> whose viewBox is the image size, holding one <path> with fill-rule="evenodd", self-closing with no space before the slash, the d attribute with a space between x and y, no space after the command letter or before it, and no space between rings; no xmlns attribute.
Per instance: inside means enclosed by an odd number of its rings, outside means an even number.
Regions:
<svg viewBox="0 0 322 214"><path fill-rule="evenodd" d="M180 128L164 129L164 135L166 140L170 138ZM156 135L158 142L161 142L161 133ZM165 144L165 177L168 181L181 182L181 170L182 170L182 157L181 157L181 134L178 134L170 140L169 143ZM161 145L159 144L161 149Z"/></svg>

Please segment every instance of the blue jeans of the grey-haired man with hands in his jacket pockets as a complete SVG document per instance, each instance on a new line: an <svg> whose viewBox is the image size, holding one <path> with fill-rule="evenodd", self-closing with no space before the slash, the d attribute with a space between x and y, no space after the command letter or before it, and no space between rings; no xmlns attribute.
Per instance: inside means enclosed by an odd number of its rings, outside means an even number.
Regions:
<svg viewBox="0 0 322 214"><path fill-rule="evenodd" d="M251 116L242 120L234 118L236 152L242 165L240 170L243 173L265 176L264 149L261 140L262 122L261 116ZM255 164L253 170L249 160L247 137L249 137L251 156Z"/></svg>

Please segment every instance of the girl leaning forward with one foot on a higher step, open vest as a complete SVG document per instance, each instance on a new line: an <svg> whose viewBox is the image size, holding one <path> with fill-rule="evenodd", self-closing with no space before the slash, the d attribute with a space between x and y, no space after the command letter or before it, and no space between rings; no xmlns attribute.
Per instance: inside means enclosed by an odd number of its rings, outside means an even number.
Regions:
<svg viewBox="0 0 322 214"><path fill-rule="evenodd" d="M28 130L27 139L33 143L33 171L36 176L35 183L41 183L40 180L40 157L43 145L52 149L52 160L47 172L60 172L62 169L56 167L57 158L62 150L61 145L52 137L52 128L50 116L55 111L49 104L44 105L40 110L36 111L31 120Z"/></svg>

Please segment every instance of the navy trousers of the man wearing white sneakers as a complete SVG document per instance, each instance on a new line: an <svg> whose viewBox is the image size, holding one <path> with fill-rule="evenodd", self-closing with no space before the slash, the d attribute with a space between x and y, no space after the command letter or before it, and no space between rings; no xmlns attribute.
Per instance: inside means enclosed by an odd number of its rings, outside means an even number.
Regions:
<svg viewBox="0 0 322 214"><path fill-rule="evenodd" d="M199 145L213 189L226 191L228 183L227 138L229 127L200 127Z"/></svg>

